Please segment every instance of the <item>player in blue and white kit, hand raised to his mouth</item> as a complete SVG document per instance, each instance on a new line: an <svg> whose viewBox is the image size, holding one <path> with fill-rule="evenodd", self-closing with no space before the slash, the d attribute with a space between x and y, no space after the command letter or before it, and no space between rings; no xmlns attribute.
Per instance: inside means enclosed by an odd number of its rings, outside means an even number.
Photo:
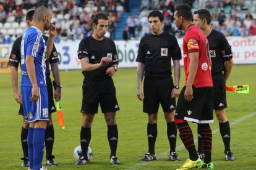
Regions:
<svg viewBox="0 0 256 170"><path fill-rule="evenodd" d="M45 169L42 166L46 121L48 114L48 92L46 88L46 66L53 49L56 28L51 25L52 13L46 7L38 7L33 16L33 25L25 31L21 44L21 81L23 111L28 128L28 169ZM49 30L49 39L43 39L43 33Z"/></svg>

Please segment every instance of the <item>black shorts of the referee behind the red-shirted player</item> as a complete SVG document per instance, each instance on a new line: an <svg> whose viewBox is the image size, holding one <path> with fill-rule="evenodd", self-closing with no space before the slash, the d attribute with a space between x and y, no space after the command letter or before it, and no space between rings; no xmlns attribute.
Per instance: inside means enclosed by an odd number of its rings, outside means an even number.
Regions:
<svg viewBox="0 0 256 170"><path fill-rule="evenodd" d="M228 107L226 99L226 82L222 73L212 74L213 78L213 109L222 110Z"/></svg>

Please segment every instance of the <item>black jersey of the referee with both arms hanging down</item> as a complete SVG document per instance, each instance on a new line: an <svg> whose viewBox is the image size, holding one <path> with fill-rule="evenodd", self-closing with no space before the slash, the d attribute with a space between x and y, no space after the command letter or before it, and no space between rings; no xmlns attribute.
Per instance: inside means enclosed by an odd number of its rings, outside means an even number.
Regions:
<svg viewBox="0 0 256 170"><path fill-rule="evenodd" d="M136 62L145 64L145 78L171 76L171 59L181 60L181 48L173 34L147 34L140 40Z"/></svg>

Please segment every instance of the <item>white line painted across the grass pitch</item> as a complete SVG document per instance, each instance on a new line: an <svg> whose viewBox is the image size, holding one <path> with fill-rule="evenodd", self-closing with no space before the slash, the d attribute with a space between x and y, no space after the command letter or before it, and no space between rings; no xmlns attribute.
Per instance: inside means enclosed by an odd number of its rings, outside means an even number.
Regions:
<svg viewBox="0 0 256 170"><path fill-rule="evenodd" d="M234 126L235 124L240 123L240 122L244 121L245 119L251 118L254 115L256 115L256 112L252 112L249 115L245 115L245 116L243 116L241 118L238 118L238 119L232 121L231 123L229 123L229 125L230 126ZM212 131L213 134L216 134L217 132L220 132L219 128L214 129ZM179 133L179 131L178 131L178 133ZM197 139L195 139L194 141L197 142ZM184 148L185 148L184 145L181 144L178 147L176 147L176 151L182 150ZM168 155L169 155L169 150L167 150L166 152L160 153L159 155L157 155L157 158L164 158L164 157L166 157ZM130 168L127 168L126 170L139 169L139 168L142 168L143 166L146 166L147 164L150 164L151 162L152 161L146 162L146 163L138 163L138 164L135 164L134 166L131 166Z"/></svg>

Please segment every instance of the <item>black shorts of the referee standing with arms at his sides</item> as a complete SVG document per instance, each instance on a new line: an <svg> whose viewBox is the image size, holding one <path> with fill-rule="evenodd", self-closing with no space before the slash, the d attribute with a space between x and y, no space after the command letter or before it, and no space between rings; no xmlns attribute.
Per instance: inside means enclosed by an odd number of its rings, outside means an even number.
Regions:
<svg viewBox="0 0 256 170"><path fill-rule="evenodd" d="M164 112L171 112L175 110L176 100L171 99L171 91L173 91L173 78L145 78L143 89L143 112L158 113L160 103Z"/></svg>

